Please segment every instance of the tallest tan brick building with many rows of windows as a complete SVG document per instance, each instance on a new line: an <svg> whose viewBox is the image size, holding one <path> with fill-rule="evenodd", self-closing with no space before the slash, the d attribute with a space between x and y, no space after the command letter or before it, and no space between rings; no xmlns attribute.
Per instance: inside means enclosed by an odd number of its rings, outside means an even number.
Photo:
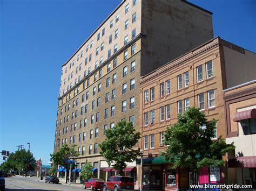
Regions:
<svg viewBox="0 0 256 191"><path fill-rule="evenodd" d="M76 144L78 168L113 174L98 144L122 119L140 130L140 76L212 37L212 13L186 1L120 3L62 66L54 151Z"/></svg>

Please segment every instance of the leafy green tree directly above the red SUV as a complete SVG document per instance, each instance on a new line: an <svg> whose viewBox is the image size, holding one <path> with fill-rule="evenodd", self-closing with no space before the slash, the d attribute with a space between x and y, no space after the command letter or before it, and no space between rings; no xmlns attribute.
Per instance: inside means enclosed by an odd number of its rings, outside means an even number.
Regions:
<svg viewBox="0 0 256 191"><path fill-rule="evenodd" d="M133 147L138 143L140 133L135 132L132 122L118 122L113 129L106 130L106 140L99 144L100 154L107 164L117 169L120 174L126 167L125 162L132 162L140 155Z"/></svg>

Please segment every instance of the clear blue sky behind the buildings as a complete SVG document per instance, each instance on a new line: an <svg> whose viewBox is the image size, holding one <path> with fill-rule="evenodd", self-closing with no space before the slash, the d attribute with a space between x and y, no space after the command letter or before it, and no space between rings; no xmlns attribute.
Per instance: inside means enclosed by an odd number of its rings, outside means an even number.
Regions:
<svg viewBox="0 0 256 191"><path fill-rule="evenodd" d="M30 142L35 158L49 162L61 66L120 2L0 1L0 150ZM256 1L190 2L213 12L214 37L256 52Z"/></svg>

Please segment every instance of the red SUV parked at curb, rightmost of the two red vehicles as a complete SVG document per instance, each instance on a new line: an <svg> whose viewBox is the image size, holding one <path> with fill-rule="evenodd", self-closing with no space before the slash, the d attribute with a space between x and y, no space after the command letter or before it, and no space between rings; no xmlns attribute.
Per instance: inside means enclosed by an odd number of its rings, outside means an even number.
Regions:
<svg viewBox="0 0 256 191"><path fill-rule="evenodd" d="M134 190L133 178L129 176L111 176L104 183L103 190Z"/></svg>

